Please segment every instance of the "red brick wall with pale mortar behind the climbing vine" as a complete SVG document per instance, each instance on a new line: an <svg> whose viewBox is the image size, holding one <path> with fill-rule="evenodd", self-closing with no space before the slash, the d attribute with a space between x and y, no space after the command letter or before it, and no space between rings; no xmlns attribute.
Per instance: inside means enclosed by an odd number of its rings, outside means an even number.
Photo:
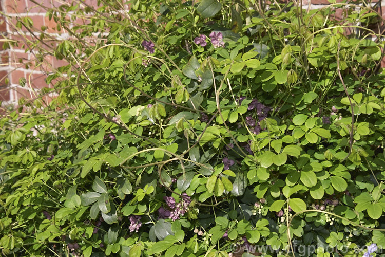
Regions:
<svg viewBox="0 0 385 257"><path fill-rule="evenodd" d="M62 4L69 3L68 0L35 0L35 2L46 7L52 8ZM79 1L79 0L73 0ZM291 1L291 0L279 0ZM298 0L301 1L301 0ZM72 0L70 1L72 2ZM97 0L86 0L87 4L96 6ZM337 3L342 0L337 0ZM304 9L318 9L330 4L328 0L302 0ZM376 5L376 10L385 15L385 1L373 2L372 6ZM66 38L68 35L61 34L56 30L56 24L48 19L44 8L36 5L31 0L0 0L0 33L3 37L0 38L0 101L3 106L8 104L17 104L21 97L30 99L34 98L38 91L43 87L52 87L48 85L45 78L52 69L65 65L66 62L57 60L52 56L43 58L43 62L37 60L37 52L28 49L28 41L35 41L30 32L25 28L17 29L17 19L29 17L34 24L35 31L45 28L46 32L51 33L56 38ZM339 16L339 17L338 17ZM343 10L337 10L337 18L343 16ZM69 20L71 20L69 15ZM76 22L74 19L72 22ZM380 28L380 30L382 30ZM18 43L11 49L3 50L3 38L15 40ZM57 42L50 42L55 46ZM24 48L23 48L24 46ZM27 49L27 51L26 51ZM24 80L25 86L21 86L20 81ZM22 83L24 84L24 83ZM44 99L43 99L44 100ZM49 99L46 99L49 101Z"/></svg>

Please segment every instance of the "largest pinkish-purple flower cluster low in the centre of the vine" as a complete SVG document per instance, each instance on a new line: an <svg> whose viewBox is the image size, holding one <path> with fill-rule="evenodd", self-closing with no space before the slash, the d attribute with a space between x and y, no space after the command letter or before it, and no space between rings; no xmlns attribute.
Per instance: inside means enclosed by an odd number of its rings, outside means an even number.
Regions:
<svg viewBox="0 0 385 257"><path fill-rule="evenodd" d="M187 212L188 206L191 203L190 197L185 193L182 194L182 199L179 203L177 203L175 198L172 196L164 196L163 199L165 200L169 210L163 207L159 208L158 218L171 218L172 221L180 219L180 217Z"/></svg>

